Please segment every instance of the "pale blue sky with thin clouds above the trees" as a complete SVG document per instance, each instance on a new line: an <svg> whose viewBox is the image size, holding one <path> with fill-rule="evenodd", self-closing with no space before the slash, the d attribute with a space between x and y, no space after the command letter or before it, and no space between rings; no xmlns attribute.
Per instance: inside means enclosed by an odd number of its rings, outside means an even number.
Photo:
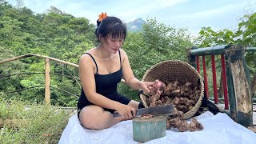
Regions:
<svg viewBox="0 0 256 144"><path fill-rule="evenodd" d="M6 0L16 6L16 0ZM240 18L256 12L256 0L23 0L34 13L46 13L50 6L96 24L98 14L106 12L124 22L136 18L156 18L166 26L187 28L198 34L202 27L236 30Z"/></svg>

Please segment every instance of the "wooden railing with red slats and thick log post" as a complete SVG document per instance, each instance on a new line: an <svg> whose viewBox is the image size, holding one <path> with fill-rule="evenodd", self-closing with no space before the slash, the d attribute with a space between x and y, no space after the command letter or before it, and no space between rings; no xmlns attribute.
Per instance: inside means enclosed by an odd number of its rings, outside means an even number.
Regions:
<svg viewBox="0 0 256 144"><path fill-rule="evenodd" d="M256 74L250 82L249 69L246 65L245 51L256 51L256 48L246 48L238 45L212 46L203 49L192 48L189 50L189 62L200 73L200 61L202 56L203 78L205 82L206 95L208 93L208 79L206 71L207 55L211 58L211 70L213 78L214 102L218 103L218 86L215 66L215 57L221 55L222 78L221 86L224 94L225 109L230 109L230 117L243 126L253 125L253 101L252 95L255 91ZM253 86L252 86L253 85Z"/></svg>

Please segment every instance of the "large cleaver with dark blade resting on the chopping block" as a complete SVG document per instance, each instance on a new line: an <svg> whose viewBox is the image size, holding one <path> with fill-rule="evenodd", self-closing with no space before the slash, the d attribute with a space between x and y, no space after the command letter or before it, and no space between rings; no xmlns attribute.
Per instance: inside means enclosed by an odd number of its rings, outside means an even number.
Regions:
<svg viewBox="0 0 256 144"><path fill-rule="evenodd" d="M174 105L155 106L149 108L136 109L135 117L141 117L145 114L151 114L154 116L168 116L174 114ZM120 114L114 113L113 117L119 117Z"/></svg>

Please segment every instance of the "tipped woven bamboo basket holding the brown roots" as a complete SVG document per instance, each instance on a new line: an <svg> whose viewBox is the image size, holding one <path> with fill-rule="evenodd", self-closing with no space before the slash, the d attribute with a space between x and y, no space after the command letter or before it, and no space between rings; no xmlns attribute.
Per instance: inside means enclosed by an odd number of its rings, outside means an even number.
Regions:
<svg viewBox="0 0 256 144"><path fill-rule="evenodd" d="M199 86L200 96L195 106L184 114L184 119L188 119L194 116L202 104L203 98L203 82L198 71L187 62L180 60L167 60L159 62L154 66L146 70L142 81L154 82L158 79L161 82L174 82L174 81L186 81L192 82L194 86ZM144 94L140 94L139 97L145 107L148 107L148 98Z"/></svg>

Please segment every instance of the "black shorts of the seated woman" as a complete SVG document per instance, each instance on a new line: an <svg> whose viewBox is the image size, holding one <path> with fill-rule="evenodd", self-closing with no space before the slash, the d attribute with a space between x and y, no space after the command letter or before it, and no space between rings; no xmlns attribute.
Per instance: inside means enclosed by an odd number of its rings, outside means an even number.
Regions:
<svg viewBox="0 0 256 144"><path fill-rule="evenodd" d="M111 100L116 101L116 102L120 102L124 105L128 105L128 103L131 101L130 98L126 98L122 94L115 95L114 98L111 98ZM80 111L82 110L82 108L84 108L86 106L90 106L90 105L94 105L94 104L91 103L91 102L79 103L78 104L78 118L79 118L79 114L80 114ZM115 110L112 110L112 109L106 109L106 108L103 108L103 109L106 110L106 111L109 111L111 114L113 114L114 111L115 111Z"/></svg>

